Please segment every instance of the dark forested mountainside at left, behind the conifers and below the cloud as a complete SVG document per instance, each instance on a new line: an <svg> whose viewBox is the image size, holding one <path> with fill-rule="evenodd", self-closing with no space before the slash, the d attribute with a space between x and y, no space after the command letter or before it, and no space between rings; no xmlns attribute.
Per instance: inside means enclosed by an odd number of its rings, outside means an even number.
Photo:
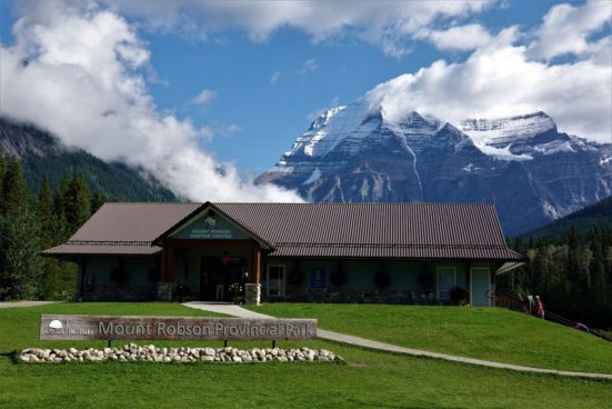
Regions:
<svg viewBox="0 0 612 409"><path fill-rule="evenodd" d="M38 193L44 178L54 188L63 177L81 172L91 191L98 188L112 200L177 200L174 193L142 170L107 163L82 149L69 149L50 133L7 118L0 118L0 154L20 160L32 193Z"/></svg>

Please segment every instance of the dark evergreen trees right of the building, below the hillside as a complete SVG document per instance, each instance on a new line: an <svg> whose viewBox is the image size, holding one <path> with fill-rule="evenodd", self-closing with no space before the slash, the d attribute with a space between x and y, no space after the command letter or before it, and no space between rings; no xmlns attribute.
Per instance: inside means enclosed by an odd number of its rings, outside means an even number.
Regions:
<svg viewBox="0 0 612 409"><path fill-rule="evenodd" d="M592 327L612 326L612 228L509 240L525 256L521 268L498 277L502 293L540 296L545 308Z"/></svg>

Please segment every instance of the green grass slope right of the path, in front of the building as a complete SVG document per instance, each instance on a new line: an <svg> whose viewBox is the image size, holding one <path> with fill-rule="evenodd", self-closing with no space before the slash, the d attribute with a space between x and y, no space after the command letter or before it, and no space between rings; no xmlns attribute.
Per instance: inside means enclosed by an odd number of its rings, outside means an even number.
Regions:
<svg viewBox="0 0 612 409"><path fill-rule="evenodd" d="M270 303L251 310L403 347L541 368L612 373L612 343L499 308Z"/></svg>

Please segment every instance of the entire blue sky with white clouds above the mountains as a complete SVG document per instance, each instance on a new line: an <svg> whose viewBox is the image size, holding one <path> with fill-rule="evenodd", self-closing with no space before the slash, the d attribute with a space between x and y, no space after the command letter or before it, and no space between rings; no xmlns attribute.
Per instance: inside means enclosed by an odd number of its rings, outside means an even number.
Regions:
<svg viewBox="0 0 612 409"><path fill-rule="evenodd" d="M612 1L0 0L0 114L181 197L251 179L364 98L458 123L543 110L612 142Z"/></svg>

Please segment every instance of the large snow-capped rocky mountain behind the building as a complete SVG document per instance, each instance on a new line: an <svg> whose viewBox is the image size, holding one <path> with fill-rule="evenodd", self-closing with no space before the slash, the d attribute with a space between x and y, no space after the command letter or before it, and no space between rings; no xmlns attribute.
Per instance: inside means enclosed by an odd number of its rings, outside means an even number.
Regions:
<svg viewBox="0 0 612 409"><path fill-rule="evenodd" d="M544 112L454 127L358 100L323 112L258 181L310 201L494 203L514 235L612 194L612 144L561 133Z"/></svg>

